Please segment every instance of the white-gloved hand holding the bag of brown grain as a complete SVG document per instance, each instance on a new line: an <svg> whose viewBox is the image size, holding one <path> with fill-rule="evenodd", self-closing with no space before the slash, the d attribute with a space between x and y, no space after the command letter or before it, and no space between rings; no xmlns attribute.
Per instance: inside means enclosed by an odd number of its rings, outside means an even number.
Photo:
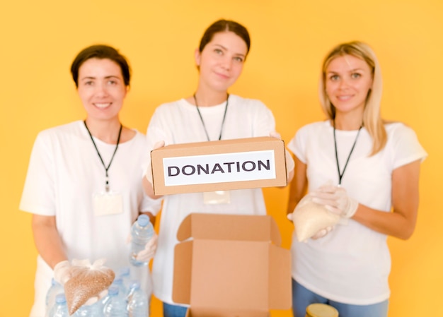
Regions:
<svg viewBox="0 0 443 317"><path fill-rule="evenodd" d="M105 259L97 260L91 265L91 261L88 259L78 260L73 259L71 263L69 261L61 261L54 266L54 280L59 282L62 286L71 278L71 270L74 267L84 266L89 268L98 268L105 263ZM108 289L104 289L100 294L95 297L89 298L84 305L92 305L105 297L108 294Z"/></svg>

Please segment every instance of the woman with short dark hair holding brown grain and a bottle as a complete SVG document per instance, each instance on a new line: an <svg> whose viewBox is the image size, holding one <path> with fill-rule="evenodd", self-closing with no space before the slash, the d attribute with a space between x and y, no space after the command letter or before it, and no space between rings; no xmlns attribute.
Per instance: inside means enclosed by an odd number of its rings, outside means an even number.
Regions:
<svg viewBox="0 0 443 317"><path fill-rule="evenodd" d="M45 316L52 277L62 285L69 280L71 260L105 258L116 274L128 267L132 222L141 213L151 216L152 200L140 180L146 138L119 118L130 87L127 60L113 47L93 45L76 56L71 74L86 119L38 134L20 203L33 214L39 253L30 313L35 317ZM147 249L141 261L152 256L155 241ZM150 275L144 271L133 273L140 273L150 294Z"/></svg>

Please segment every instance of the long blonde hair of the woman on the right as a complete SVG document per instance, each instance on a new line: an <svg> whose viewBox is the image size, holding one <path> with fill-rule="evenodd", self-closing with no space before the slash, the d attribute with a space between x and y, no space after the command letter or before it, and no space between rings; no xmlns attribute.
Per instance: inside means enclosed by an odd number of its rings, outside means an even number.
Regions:
<svg viewBox="0 0 443 317"><path fill-rule="evenodd" d="M372 69L372 87L368 92L366 104L363 112L363 125L367 129L369 136L372 138L371 155L381 151L386 145L387 136L384 128L384 121L381 119L380 103L382 80L379 61L374 51L369 45L363 42L348 42L339 44L334 47L323 60L321 68L321 78L318 84L318 94L320 97L321 108L329 119L335 119L335 107L326 95L326 68L333 59L338 56L351 55L358 59L366 61L369 68Z"/></svg>

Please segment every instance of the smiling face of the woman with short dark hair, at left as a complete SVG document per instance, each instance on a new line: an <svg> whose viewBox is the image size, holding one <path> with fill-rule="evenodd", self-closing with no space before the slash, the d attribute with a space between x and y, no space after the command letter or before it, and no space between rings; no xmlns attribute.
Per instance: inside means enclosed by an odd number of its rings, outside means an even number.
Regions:
<svg viewBox="0 0 443 317"><path fill-rule="evenodd" d="M118 64L110 59L88 59L79 68L77 91L88 119L118 120L127 86Z"/></svg>

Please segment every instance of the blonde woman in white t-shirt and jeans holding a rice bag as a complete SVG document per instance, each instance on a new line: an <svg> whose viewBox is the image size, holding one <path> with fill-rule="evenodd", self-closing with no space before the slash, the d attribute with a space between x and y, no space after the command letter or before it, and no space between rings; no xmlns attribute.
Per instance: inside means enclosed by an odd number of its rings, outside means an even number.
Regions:
<svg viewBox="0 0 443 317"><path fill-rule="evenodd" d="M292 239L294 316L325 303L340 317L387 316L388 236L408 239L418 212L420 162L415 132L381 119L381 72L362 42L339 44L323 61L319 95L327 119L297 131L288 214L307 191L340 215L306 243ZM296 228L297 230L297 228Z"/></svg>

